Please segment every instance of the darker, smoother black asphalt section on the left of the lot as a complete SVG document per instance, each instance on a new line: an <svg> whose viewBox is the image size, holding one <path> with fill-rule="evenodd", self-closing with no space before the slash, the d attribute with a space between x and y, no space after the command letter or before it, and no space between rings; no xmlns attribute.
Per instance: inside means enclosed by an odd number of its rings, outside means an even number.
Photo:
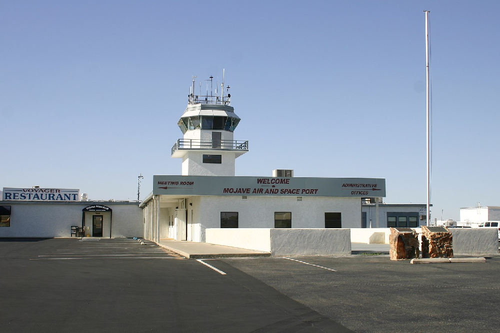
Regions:
<svg viewBox="0 0 500 333"><path fill-rule="evenodd" d="M0 239L0 332L351 332L251 276L132 239Z"/></svg>

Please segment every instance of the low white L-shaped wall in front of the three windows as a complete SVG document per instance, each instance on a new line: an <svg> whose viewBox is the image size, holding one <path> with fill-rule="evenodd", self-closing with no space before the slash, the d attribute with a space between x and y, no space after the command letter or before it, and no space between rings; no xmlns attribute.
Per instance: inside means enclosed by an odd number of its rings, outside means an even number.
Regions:
<svg viewBox="0 0 500 333"><path fill-rule="evenodd" d="M206 243L273 256L350 255L349 229L206 229Z"/></svg>

